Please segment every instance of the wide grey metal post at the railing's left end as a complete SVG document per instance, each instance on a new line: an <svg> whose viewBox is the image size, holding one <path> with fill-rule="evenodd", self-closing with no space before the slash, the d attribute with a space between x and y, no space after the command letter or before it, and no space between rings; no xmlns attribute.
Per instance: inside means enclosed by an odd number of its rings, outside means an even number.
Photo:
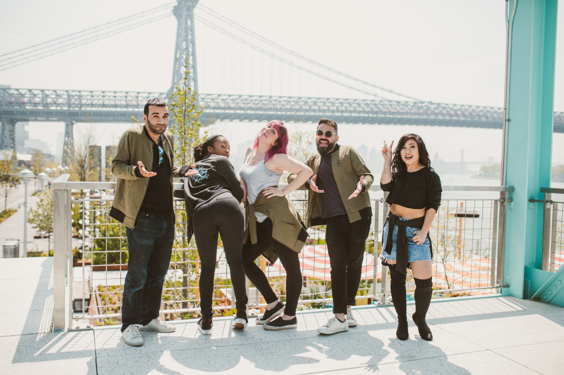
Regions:
<svg viewBox="0 0 564 375"><path fill-rule="evenodd" d="M65 301L68 271L68 248L70 247L70 190L67 181L70 175L60 175L51 182L53 189L53 332L65 331ZM72 283L72 280L70 280Z"/></svg>

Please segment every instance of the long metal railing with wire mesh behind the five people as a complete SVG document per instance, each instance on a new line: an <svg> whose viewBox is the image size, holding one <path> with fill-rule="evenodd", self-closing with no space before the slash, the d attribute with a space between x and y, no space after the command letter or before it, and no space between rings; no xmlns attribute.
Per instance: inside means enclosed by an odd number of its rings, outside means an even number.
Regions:
<svg viewBox="0 0 564 375"><path fill-rule="evenodd" d="M54 331L71 329L73 319L96 319L114 324L121 315L121 298L127 272L125 226L109 217L115 182L70 182L62 175L54 189ZM181 189L175 183L175 189ZM373 186L372 191L380 190ZM435 297L493 293L504 287L503 260L506 194L512 187L443 186L444 191L500 191L499 199L443 199L429 232L433 243ZM305 191L294 191L292 202L306 220ZM387 268L378 261L382 226L387 212L384 199L371 199L373 217L365 244L362 280L357 304L387 301ZM165 278L161 316L186 319L198 314L200 260L195 241L186 238L184 201L174 199L176 233L173 255ZM303 284L298 309L329 307L332 303L331 266L325 247L325 226L308 229L309 238L299 261ZM74 260L74 261L73 261ZM257 259L274 291L285 300L285 271L262 256ZM385 277L382 278L384 272ZM214 310L230 315L235 309L230 271L221 239L215 270ZM249 312L263 312L266 303L247 283ZM408 272L408 296L415 285ZM408 297L410 298L410 297ZM234 311L234 310L233 310Z"/></svg>

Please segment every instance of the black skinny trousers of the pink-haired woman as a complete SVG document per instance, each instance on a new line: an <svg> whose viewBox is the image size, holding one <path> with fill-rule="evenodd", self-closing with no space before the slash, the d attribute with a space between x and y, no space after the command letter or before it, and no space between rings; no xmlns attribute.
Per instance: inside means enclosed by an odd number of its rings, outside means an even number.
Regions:
<svg viewBox="0 0 564 375"><path fill-rule="evenodd" d="M280 259L280 263L286 270L286 307L284 314L288 316L296 315L296 307L298 307L299 294L302 292L302 272L299 269L298 253L281 244L272 238L272 221L266 218L263 222L257 222L257 244L258 250L253 250L253 244L249 239L243 245L243 266L245 274L250 282L258 288L262 296L265 297L266 303L275 302L278 297L268 284L268 279L257 266L255 260L265 252L271 245L274 245L276 254Z"/></svg>

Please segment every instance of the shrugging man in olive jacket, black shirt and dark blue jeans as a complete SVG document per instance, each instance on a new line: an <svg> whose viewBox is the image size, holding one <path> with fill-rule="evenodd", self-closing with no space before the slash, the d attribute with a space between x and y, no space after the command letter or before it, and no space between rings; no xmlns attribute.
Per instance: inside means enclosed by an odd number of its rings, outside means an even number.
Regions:
<svg viewBox="0 0 564 375"><path fill-rule="evenodd" d="M166 131L169 108L162 99L145 104L144 126L127 129L112 159L116 193L109 215L126 226L129 260L121 307L121 332L131 346L139 331L173 332L158 319L162 284L174 242L173 177L194 175L174 166L174 139Z"/></svg>

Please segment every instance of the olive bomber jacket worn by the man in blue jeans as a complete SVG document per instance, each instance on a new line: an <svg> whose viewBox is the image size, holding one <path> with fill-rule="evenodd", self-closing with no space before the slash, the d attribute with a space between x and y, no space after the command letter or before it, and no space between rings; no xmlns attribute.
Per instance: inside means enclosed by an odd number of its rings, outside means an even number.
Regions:
<svg viewBox="0 0 564 375"><path fill-rule="evenodd" d="M186 172L187 167L174 167L173 135L165 131L161 134L161 139L162 148L171 166L170 189L173 190L173 177L183 177L180 176L180 169ZM130 127L122 134L117 145L116 156L112 159L112 173L116 176L116 191L112 209L117 209L124 214L123 223L131 229L135 227L135 220L149 185L149 178L138 177L138 174L135 173L135 170L139 168L138 161L143 163L147 171L153 170L153 140L143 125Z"/></svg>

